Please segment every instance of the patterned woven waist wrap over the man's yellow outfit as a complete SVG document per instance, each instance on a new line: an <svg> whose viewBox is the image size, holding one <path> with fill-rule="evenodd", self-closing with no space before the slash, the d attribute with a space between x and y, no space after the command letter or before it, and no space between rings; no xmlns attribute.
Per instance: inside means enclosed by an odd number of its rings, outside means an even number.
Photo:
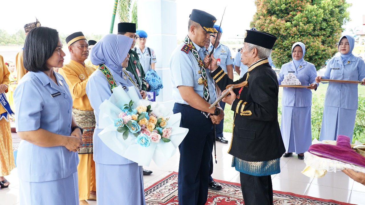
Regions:
<svg viewBox="0 0 365 205"><path fill-rule="evenodd" d="M78 154L92 154L93 153L93 144L92 144L92 136L95 130L95 115L94 111L88 110L80 110L76 108L72 108L73 116L78 124L78 126L84 129L82 133L82 148L80 148L77 153Z"/></svg>

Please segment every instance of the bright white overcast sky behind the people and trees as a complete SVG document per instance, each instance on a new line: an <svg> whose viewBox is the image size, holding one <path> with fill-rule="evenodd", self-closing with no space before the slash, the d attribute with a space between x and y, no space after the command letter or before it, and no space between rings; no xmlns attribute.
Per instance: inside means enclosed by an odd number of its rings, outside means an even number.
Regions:
<svg viewBox="0 0 365 205"><path fill-rule="evenodd" d="M139 0L149 1L149 0ZM176 0L177 5L177 38L186 35L189 14L192 9L200 9L222 19L222 40L242 35L249 29L252 16L256 12L253 0ZM365 14L364 0L347 0L353 6L349 8L351 22L345 28L362 26L362 15ZM19 6L20 5L20 6ZM1 0L0 29L15 33L23 29L24 24L35 22L35 17L42 26L57 29L60 33L71 34L82 31L84 34L107 34L110 29L114 0ZM118 14L117 14L118 15ZM114 33L119 23L116 16ZM151 16L153 23L153 16ZM142 28L140 28L142 29Z"/></svg>

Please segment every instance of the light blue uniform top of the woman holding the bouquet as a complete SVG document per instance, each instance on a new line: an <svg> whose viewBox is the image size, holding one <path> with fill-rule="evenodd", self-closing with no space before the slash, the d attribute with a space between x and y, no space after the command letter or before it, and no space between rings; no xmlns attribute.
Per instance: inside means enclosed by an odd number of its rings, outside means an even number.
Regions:
<svg viewBox="0 0 365 205"><path fill-rule="evenodd" d="M128 77L126 77L127 80L124 80L123 77L121 77L121 74L122 76L125 76L123 71L114 71L110 68L109 71L116 82L116 86L119 85L126 86L126 89L124 89L126 92L128 91L128 88L130 86L133 86L136 92L138 93L139 98L142 99L141 94L139 94L139 90L134 86L134 84L130 80L128 80ZM128 71L127 73L135 81L133 74ZM95 120L96 120L96 125L93 135L94 161L96 163L104 165L124 165L133 163L133 161L124 158L123 156L120 156L119 154L116 154L114 151L112 151L109 147L107 147L104 144L103 141L101 141L101 139L98 136L98 134L103 130L99 129L100 104L104 102L104 100L108 100L112 95L107 78L99 69L94 71L89 77L89 80L86 84L86 94L89 98L91 107L94 109Z"/></svg>

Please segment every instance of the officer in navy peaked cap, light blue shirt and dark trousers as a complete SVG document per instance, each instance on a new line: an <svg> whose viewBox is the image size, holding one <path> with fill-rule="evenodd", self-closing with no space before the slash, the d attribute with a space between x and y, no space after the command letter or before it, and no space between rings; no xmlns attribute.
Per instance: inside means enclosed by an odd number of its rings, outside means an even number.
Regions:
<svg viewBox="0 0 365 205"><path fill-rule="evenodd" d="M179 146L178 202L203 205L208 197L209 167L213 149L212 123L219 124L223 110L210 105L216 100L215 86L203 59L216 18L193 9L188 35L173 52L171 71L173 113L181 113L180 127L189 132Z"/></svg>

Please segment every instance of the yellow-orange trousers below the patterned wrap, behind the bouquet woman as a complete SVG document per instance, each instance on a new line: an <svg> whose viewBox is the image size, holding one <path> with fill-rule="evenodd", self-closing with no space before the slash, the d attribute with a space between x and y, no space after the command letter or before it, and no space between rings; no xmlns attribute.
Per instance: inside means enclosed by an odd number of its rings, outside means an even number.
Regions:
<svg viewBox="0 0 365 205"><path fill-rule="evenodd" d="M79 154L78 158L78 198L80 201L88 200L90 191L96 191L95 162L93 154Z"/></svg>

